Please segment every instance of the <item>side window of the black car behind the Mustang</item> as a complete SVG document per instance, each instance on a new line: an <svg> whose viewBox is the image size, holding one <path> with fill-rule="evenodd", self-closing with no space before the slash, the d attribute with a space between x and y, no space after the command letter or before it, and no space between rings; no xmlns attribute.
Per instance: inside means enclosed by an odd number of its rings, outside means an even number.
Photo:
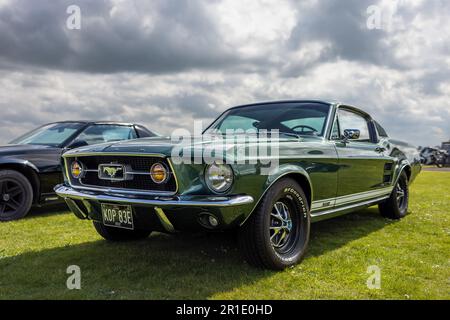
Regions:
<svg viewBox="0 0 450 320"><path fill-rule="evenodd" d="M99 144L105 142L136 139L133 127L115 125L93 125L84 130L77 140L85 141L87 144Z"/></svg>

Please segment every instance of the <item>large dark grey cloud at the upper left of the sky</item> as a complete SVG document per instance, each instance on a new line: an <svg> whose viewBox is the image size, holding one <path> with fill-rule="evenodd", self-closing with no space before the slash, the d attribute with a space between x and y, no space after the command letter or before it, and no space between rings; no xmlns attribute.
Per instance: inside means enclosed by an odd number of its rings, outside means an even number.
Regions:
<svg viewBox="0 0 450 320"><path fill-rule="evenodd" d="M66 28L66 8L73 4L81 8L81 30ZM134 1L116 14L113 6L106 0L15 0L0 9L0 65L163 73L236 60L201 1ZM151 16L148 28L144 14Z"/></svg>

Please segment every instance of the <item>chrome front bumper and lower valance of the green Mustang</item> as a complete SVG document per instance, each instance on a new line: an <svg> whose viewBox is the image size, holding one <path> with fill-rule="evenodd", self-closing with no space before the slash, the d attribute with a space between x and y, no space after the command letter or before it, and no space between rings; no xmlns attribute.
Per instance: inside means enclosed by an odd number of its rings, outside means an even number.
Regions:
<svg viewBox="0 0 450 320"><path fill-rule="evenodd" d="M219 221L218 229L232 228L245 220L253 207L254 199L248 195L231 196L142 196L103 192L80 191L66 185L55 187L70 210L80 219L102 221L101 204L127 204L134 208L138 221L148 224L154 212L164 231L197 228L202 214L210 214ZM144 224L145 224L144 223ZM154 225L152 225L154 226ZM144 228L145 225L138 227ZM152 229L153 230L153 229Z"/></svg>

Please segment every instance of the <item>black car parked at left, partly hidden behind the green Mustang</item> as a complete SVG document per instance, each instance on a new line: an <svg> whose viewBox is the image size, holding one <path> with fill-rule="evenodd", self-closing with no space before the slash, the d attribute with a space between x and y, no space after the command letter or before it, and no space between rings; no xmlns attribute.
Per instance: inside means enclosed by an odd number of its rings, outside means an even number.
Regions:
<svg viewBox="0 0 450 320"><path fill-rule="evenodd" d="M59 201L61 155L82 146L157 136L147 128L117 122L46 124L0 146L0 221L24 217L31 206Z"/></svg>

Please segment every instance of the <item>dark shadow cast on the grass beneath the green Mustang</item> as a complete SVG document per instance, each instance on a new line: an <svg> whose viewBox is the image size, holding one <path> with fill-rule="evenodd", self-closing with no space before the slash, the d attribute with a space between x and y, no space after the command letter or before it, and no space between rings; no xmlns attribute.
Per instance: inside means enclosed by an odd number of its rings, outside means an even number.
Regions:
<svg viewBox="0 0 450 320"><path fill-rule="evenodd" d="M313 224L305 259L386 223L371 208ZM81 290L66 287L70 265L81 268ZM0 299L207 299L274 274L248 266L233 234L156 233L127 243L93 238L0 259Z"/></svg>

